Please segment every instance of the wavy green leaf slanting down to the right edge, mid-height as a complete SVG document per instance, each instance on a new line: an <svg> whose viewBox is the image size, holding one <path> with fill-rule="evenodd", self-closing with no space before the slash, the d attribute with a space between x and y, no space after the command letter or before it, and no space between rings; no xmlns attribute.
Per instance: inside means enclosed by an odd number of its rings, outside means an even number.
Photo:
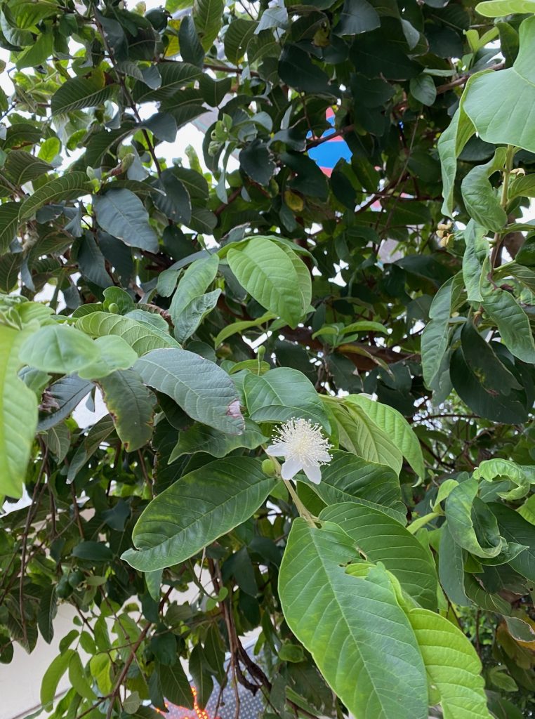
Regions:
<svg viewBox="0 0 535 719"><path fill-rule="evenodd" d="M490 262L487 258L483 263L480 280L480 292L485 312L498 325L502 342L509 352L523 362L533 363L535 362L535 342L531 334L528 316L510 292L489 282L489 272Z"/></svg>

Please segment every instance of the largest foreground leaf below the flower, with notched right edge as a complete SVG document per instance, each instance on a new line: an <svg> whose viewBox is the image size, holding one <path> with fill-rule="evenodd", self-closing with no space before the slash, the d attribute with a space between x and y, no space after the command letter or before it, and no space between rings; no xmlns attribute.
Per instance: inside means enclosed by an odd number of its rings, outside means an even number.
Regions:
<svg viewBox="0 0 535 719"><path fill-rule="evenodd" d="M367 577L344 570L360 555L329 523L293 521L279 574L288 626L321 674L359 719L425 719L424 662L386 570ZM377 640L380 636L380 641Z"/></svg>

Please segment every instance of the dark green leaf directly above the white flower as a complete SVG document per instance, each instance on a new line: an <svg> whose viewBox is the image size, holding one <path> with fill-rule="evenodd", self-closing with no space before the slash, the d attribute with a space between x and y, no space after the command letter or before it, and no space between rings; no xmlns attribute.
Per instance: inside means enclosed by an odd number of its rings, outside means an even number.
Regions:
<svg viewBox="0 0 535 719"><path fill-rule="evenodd" d="M276 367L261 377L247 373L243 390L255 422L286 422L293 417L319 423L327 433L329 419L314 385L299 370Z"/></svg>

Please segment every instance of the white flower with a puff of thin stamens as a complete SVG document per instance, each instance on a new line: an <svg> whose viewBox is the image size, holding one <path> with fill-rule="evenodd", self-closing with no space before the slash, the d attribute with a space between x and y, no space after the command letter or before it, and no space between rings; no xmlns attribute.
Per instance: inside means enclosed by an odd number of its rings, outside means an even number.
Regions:
<svg viewBox="0 0 535 719"><path fill-rule="evenodd" d="M321 482L321 464L331 461L327 451L331 444L321 434L319 424L309 419L291 419L275 430L274 444L265 450L271 457L285 457L280 475L291 480L298 472L306 474L311 482Z"/></svg>

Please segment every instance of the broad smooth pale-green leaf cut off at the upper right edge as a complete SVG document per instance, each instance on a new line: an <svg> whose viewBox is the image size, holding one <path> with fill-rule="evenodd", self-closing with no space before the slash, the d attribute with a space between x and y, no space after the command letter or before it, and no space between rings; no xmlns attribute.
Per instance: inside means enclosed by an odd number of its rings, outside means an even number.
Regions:
<svg viewBox="0 0 535 719"><path fill-rule="evenodd" d="M463 106L485 142L535 152L535 17L522 22L519 35L513 67L472 75Z"/></svg>

